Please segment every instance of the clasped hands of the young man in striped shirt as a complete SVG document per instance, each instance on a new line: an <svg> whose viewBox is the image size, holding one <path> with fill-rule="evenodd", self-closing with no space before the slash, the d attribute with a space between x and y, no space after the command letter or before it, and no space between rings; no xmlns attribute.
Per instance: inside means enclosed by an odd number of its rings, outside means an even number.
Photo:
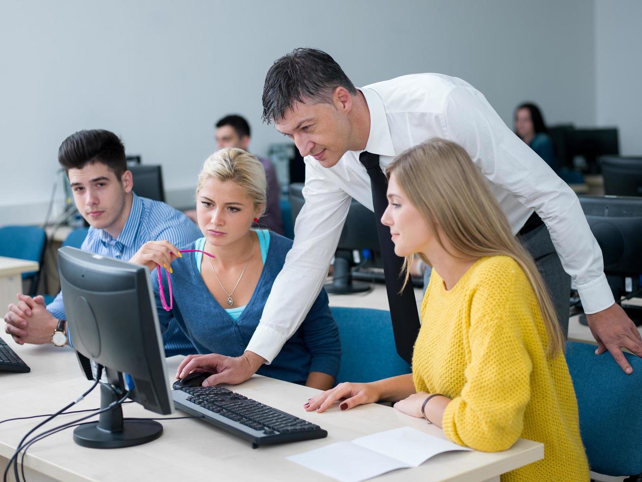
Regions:
<svg viewBox="0 0 642 482"><path fill-rule="evenodd" d="M12 335L17 344L50 343L58 320L47 311L44 298L31 298L21 293L17 297L18 303L11 303L9 312L4 315L4 331Z"/></svg>

